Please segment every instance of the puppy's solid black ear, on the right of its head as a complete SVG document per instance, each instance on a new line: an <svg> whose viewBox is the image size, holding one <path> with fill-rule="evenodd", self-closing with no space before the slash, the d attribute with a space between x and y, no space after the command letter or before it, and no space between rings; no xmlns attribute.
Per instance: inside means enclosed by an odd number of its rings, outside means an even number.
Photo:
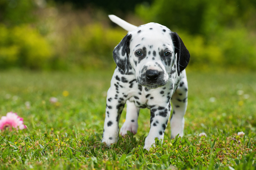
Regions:
<svg viewBox="0 0 256 170"><path fill-rule="evenodd" d="M189 63L190 54L176 32L172 32L171 37L175 48L175 54L177 53L177 72L180 76L180 72L185 69Z"/></svg>

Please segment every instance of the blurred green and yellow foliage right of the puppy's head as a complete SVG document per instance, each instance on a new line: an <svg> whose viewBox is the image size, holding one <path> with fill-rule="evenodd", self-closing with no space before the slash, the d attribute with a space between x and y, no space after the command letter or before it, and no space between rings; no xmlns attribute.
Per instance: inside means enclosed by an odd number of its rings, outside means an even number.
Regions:
<svg viewBox="0 0 256 170"><path fill-rule="evenodd" d="M255 0L154 0L138 5L136 13L178 32L192 69L256 68Z"/></svg>

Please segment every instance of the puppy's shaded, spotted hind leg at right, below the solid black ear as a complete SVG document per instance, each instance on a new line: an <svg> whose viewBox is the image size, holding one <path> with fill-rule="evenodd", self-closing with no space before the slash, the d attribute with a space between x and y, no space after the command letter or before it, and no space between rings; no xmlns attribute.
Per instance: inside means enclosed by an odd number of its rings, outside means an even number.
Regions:
<svg viewBox="0 0 256 170"><path fill-rule="evenodd" d="M187 107L188 97L188 83L186 74L180 80L180 84L177 90L172 95L173 113L171 117L171 138L175 138L176 135L183 136L184 129L184 115Z"/></svg>

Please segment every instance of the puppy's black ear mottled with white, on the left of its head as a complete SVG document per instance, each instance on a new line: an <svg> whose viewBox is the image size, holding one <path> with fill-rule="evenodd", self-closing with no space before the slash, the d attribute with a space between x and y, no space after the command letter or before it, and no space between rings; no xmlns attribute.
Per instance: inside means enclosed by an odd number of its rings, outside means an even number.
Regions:
<svg viewBox="0 0 256 170"><path fill-rule="evenodd" d="M131 34L127 34L113 50L114 61L116 65L125 72L125 74L128 74L130 68L130 42Z"/></svg>

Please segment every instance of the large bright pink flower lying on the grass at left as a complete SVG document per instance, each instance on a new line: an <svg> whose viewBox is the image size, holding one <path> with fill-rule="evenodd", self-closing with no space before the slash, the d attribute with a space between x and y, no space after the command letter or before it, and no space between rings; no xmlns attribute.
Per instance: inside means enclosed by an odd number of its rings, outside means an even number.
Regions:
<svg viewBox="0 0 256 170"><path fill-rule="evenodd" d="M23 124L23 118L20 118L17 113L8 112L6 116L2 116L0 119L0 130L4 130L6 127L13 127L17 130L26 129L26 126Z"/></svg>

